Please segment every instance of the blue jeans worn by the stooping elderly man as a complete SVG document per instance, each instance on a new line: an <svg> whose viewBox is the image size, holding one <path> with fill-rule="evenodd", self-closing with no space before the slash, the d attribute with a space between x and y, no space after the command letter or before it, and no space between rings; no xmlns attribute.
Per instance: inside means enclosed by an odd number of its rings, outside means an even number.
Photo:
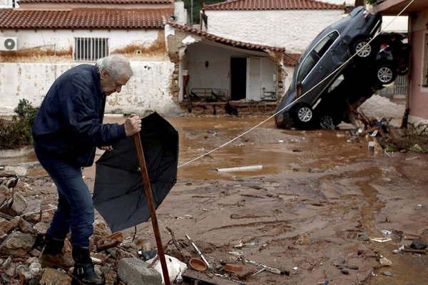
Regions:
<svg viewBox="0 0 428 285"><path fill-rule="evenodd" d="M89 237L93 234L93 202L81 167L44 153L36 142L34 150L58 190L58 208L46 237L63 240L71 230L73 247L89 247Z"/></svg>

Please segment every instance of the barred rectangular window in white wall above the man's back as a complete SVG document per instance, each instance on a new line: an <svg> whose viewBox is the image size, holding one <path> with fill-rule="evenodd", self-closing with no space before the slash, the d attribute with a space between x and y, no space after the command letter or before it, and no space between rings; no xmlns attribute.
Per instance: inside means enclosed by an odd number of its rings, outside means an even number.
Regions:
<svg viewBox="0 0 428 285"><path fill-rule="evenodd" d="M108 38L74 38L75 61L96 61L108 56Z"/></svg>

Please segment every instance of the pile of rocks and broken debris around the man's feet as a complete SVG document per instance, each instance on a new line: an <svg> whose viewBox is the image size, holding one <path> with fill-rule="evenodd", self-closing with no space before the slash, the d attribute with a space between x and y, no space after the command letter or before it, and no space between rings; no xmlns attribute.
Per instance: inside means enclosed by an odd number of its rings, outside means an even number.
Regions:
<svg viewBox="0 0 428 285"><path fill-rule="evenodd" d="M41 209L41 199L32 195L31 190L16 176L0 177L0 284L71 284L72 267L68 271L41 268L39 257L54 211ZM205 256L188 235L175 239L173 230L166 229L171 237L164 246L171 283L193 284L207 279L215 284L215 279L226 279L245 284L245 280L263 271L290 274L287 270L246 259L243 254L227 260ZM150 240L138 238L136 232L128 237L122 232L111 234L106 223L96 220L90 242L96 273L106 279L106 284L164 284L156 249ZM252 244L240 242L237 248ZM71 259L68 239L63 253Z"/></svg>

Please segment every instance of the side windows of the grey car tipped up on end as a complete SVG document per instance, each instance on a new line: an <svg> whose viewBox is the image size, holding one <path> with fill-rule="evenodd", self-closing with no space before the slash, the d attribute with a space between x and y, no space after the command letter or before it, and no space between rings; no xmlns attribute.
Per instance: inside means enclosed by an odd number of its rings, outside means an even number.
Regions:
<svg viewBox="0 0 428 285"><path fill-rule="evenodd" d="M339 37L337 31L332 31L327 36L321 39L317 45L312 48L312 51L307 55L307 57L300 64L299 74L297 76L297 82L302 82L305 80L306 76L312 71L312 68L320 61L320 58L327 53L328 49L335 42L336 38Z"/></svg>

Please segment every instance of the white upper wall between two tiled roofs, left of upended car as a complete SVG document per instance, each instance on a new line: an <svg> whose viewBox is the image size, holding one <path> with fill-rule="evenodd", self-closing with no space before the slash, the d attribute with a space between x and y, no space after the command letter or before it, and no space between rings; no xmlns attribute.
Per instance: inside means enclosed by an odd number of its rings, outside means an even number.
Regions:
<svg viewBox="0 0 428 285"><path fill-rule="evenodd" d="M301 53L342 10L205 11L208 32L237 41L285 47Z"/></svg>

